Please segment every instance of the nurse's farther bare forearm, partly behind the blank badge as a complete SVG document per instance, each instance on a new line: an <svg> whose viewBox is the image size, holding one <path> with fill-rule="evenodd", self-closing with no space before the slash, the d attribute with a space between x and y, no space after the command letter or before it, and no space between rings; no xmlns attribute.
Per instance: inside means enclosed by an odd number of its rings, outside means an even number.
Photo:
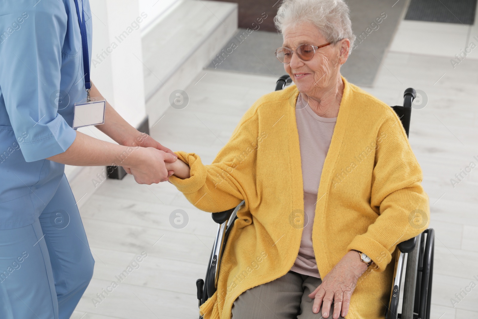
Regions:
<svg viewBox="0 0 478 319"><path fill-rule="evenodd" d="M92 98L104 99L93 82L91 82L90 96ZM141 132L123 119L108 101L106 101L105 123L96 125L95 127L121 145L124 145L125 141L135 140L141 137Z"/></svg>

